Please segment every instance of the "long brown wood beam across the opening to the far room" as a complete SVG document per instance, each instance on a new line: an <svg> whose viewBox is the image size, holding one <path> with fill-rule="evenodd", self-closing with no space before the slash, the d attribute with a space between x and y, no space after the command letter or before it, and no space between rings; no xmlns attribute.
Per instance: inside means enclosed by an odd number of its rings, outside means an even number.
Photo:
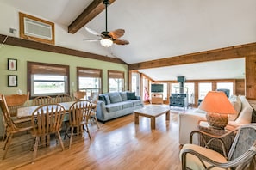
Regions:
<svg viewBox="0 0 256 170"><path fill-rule="evenodd" d="M194 64L231 58L244 58L245 56L256 55L255 53L256 42L240 46L230 46L205 52L190 53L176 57L156 59L137 64L128 64L128 70L149 69L178 64Z"/></svg>

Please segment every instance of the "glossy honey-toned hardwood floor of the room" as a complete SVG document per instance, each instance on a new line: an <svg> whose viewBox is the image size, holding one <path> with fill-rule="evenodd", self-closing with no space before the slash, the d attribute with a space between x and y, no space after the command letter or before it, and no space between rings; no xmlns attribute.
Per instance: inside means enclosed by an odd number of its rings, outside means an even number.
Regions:
<svg viewBox="0 0 256 170"><path fill-rule="evenodd" d="M171 112L156 118L156 129L151 130L149 118L134 124L134 114L116 118L105 124L90 126L92 141L86 136L74 137L72 149L69 138L65 150L51 140L51 146L38 150L31 164L33 139L30 134L12 140L6 159L2 160L3 142L0 143L0 169L181 169L178 158L178 114Z"/></svg>

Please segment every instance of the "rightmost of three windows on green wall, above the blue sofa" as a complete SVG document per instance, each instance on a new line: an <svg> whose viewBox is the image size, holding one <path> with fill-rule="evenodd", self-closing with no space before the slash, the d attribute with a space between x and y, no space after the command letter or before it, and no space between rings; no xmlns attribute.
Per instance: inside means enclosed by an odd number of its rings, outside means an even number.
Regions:
<svg viewBox="0 0 256 170"><path fill-rule="evenodd" d="M124 72L108 70L109 92L122 92L124 90Z"/></svg>

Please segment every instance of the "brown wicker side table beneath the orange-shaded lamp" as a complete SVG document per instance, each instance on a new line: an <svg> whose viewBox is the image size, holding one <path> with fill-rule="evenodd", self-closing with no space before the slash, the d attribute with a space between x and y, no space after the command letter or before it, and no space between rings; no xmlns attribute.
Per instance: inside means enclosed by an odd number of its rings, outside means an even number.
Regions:
<svg viewBox="0 0 256 170"><path fill-rule="evenodd" d="M213 127L211 127L206 121L204 120L201 120L199 121L198 123L198 129L199 131L203 131L203 132L206 132L206 133L209 133L210 135L214 135L214 136L222 136L226 133L228 133L228 131L232 131L236 128L236 126L233 126L233 125L227 125L225 127L225 129L215 129ZM206 143L209 142L209 140L212 138L212 137L209 137L207 135L203 135L204 139L206 140ZM228 154L228 151L234 141L234 137L235 137L235 134L232 133L226 137L222 137L222 141L225 145L225 150L226 150L226 153ZM200 139L200 145L204 147L204 143L203 143L203 139L201 138ZM224 155L223 153L223 149L222 149L222 143L218 140L214 140L213 142L211 142L209 144L209 149L213 149L217 152L219 152L220 154Z"/></svg>

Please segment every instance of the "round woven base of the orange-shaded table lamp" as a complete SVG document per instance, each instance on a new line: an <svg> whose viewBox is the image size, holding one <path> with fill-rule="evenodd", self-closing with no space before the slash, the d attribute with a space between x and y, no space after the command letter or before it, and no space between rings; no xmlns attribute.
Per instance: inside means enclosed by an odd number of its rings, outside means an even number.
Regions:
<svg viewBox="0 0 256 170"><path fill-rule="evenodd" d="M206 119L210 126L215 129L224 129L228 124L228 114L207 112Z"/></svg>

